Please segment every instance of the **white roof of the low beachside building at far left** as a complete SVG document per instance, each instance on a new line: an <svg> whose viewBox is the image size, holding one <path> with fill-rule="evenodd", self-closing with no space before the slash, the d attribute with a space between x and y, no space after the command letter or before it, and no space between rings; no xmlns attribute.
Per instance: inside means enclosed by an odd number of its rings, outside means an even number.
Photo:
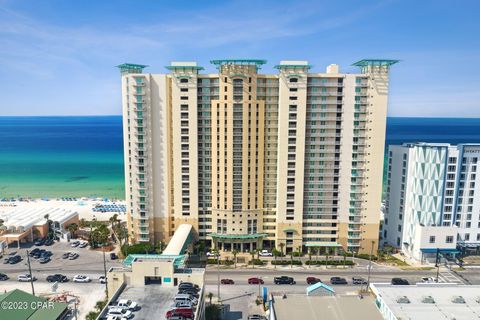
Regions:
<svg viewBox="0 0 480 320"><path fill-rule="evenodd" d="M33 226L44 225L45 216L60 224L72 219L78 212L65 208L21 206L0 211L0 219L10 232L22 233Z"/></svg>

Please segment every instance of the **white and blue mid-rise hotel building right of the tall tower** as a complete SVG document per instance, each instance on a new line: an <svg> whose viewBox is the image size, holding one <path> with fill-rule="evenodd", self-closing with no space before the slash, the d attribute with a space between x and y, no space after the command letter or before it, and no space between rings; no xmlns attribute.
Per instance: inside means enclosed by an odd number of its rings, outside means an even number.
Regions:
<svg viewBox="0 0 480 320"><path fill-rule="evenodd" d="M419 261L480 247L480 144L390 146L383 244Z"/></svg>

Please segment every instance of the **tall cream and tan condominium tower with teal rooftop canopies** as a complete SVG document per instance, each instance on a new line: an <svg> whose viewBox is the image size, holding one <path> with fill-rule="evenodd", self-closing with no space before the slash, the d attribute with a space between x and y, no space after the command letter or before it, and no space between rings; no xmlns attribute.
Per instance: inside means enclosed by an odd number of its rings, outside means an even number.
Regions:
<svg viewBox="0 0 480 320"><path fill-rule="evenodd" d="M388 77L395 60L310 73L306 61L120 65L128 228L181 223L222 250L378 246Z"/></svg>

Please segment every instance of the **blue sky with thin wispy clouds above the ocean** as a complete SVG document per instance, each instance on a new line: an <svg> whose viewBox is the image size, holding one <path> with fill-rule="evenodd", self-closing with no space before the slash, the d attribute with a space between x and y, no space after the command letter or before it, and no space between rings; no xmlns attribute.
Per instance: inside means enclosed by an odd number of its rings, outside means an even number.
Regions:
<svg viewBox="0 0 480 320"><path fill-rule="evenodd" d="M392 66L390 116L480 117L480 1L0 0L0 116L121 114L124 62Z"/></svg>

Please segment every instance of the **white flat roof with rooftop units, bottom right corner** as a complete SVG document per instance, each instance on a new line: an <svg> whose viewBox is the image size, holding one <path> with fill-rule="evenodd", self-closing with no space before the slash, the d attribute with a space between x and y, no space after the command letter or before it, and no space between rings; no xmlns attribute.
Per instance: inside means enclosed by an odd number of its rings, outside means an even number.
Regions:
<svg viewBox="0 0 480 320"><path fill-rule="evenodd" d="M480 316L480 285L417 283L392 286L374 283L371 288L398 319L468 320ZM408 303L399 303L399 298L408 299ZM425 298L430 303L424 302ZM458 303L460 301L463 303Z"/></svg>

